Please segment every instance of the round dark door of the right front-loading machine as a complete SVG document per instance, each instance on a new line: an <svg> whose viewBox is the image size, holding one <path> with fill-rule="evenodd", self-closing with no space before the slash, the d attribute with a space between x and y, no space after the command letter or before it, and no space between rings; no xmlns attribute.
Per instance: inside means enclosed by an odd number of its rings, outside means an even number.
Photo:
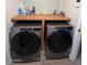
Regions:
<svg viewBox="0 0 87 65"><path fill-rule="evenodd" d="M47 47L54 53L66 52L72 45L72 35L66 30L57 30L47 37Z"/></svg>

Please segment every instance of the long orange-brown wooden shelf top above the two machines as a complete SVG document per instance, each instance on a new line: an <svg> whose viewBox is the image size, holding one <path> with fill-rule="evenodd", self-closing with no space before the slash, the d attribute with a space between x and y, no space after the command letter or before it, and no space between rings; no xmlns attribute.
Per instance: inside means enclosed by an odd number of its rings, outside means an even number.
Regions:
<svg viewBox="0 0 87 65"><path fill-rule="evenodd" d="M13 23L19 20L58 20L58 21L70 21L70 18L54 15L54 14L36 14L36 15L17 15L11 19Z"/></svg>

